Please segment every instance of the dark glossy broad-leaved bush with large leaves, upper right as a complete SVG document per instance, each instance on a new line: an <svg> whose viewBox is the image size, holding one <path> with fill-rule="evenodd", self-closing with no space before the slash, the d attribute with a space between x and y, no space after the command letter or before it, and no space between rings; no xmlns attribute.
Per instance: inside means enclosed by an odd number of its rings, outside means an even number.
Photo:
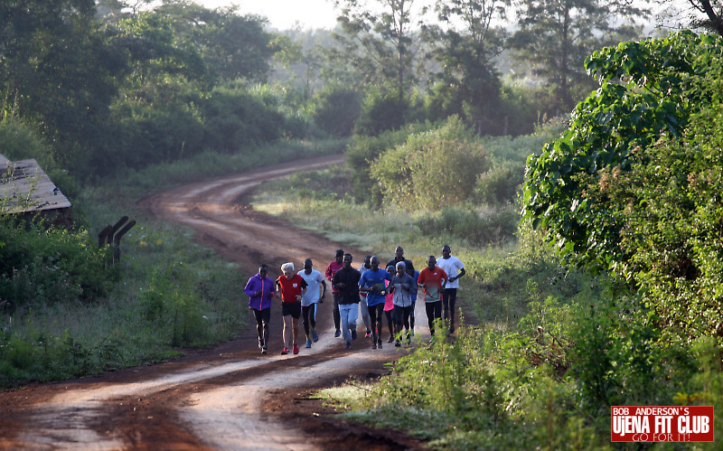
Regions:
<svg viewBox="0 0 723 451"><path fill-rule="evenodd" d="M606 269L628 258L619 246L627 202L607 202L592 188L603 169L627 173L635 149L680 136L691 113L719 101L720 61L720 37L690 32L623 42L587 58L600 89L577 105L563 136L531 157L524 186L525 216L561 253Z"/></svg>

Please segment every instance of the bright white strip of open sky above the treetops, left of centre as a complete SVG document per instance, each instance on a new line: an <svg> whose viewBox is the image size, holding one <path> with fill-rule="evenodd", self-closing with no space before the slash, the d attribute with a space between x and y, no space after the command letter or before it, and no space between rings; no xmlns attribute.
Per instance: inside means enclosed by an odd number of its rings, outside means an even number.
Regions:
<svg viewBox="0 0 723 451"><path fill-rule="evenodd" d="M296 22L302 28L332 29L336 14L331 0L195 0L207 8L240 5L241 14L268 17L271 26L286 30Z"/></svg>

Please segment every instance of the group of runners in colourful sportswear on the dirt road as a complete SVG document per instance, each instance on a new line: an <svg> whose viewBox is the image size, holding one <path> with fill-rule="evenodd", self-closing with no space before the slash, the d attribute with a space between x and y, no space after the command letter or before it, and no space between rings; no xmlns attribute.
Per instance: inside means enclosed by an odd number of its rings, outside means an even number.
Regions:
<svg viewBox="0 0 723 451"><path fill-rule="evenodd" d="M326 281L331 282L333 294L334 336L343 337L349 349L357 338L357 319L360 310L366 326L366 338L371 337L371 348L381 349L383 317L389 328L387 343L401 346L411 343L414 335L414 308L418 288L424 289L427 322L432 340L435 324L444 319L449 333L455 332L455 302L459 278L465 276L465 265L451 255L449 246L442 248L442 257L427 258L427 267L418 271L411 260L404 258L404 249L398 246L394 258L380 267L376 256L366 256L361 268L352 267L352 255L337 249L326 268L325 279L314 268L311 258L304 261L304 269L295 272L294 263L281 266L283 274L276 280L268 277L268 266L261 265L258 274L249 278L244 293L249 296L249 309L257 323L258 349L268 351L268 324L271 303L281 298L284 319L282 354L299 352L299 319L304 324L306 348L319 340L316 332L317 305L326 297Z"/></svg>

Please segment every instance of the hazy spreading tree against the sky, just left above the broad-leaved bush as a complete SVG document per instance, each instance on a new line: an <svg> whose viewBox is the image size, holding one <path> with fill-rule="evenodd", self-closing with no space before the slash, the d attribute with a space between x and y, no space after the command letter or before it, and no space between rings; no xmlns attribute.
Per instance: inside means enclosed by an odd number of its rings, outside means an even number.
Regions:
<svg viewBox="0 0 723 451"><path fill-rule="evenodd" d="M561 110L575 104L577 84L592 87L583 69L587 54L638 37L634 27L615 23L647 13L628 0L520 0L519 6L520 29L512 37L516 58L547 81Z"/></svg>

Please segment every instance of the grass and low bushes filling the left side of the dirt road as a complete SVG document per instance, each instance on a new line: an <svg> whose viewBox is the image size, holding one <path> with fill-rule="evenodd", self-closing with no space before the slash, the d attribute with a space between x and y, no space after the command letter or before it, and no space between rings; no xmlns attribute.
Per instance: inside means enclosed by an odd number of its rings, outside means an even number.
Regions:
<svg viewBox="0 0 723 451"><path fill-rule="evenodd" d="M24 138L23 138L23 142ZM8 143L9 145L12 143ZM127 170L76 198L75 230L0 222L0 386L58 381L158 362L184 348L230 340L245 326L239 287L249 268L222 261L192 232L148 221L135 202L149 190L302 155L338 153L343 140L286 141L243 155L208 152ZM221 164L222 163L222 164ZM136 226L119 263L96 233L126 213Z"/></svg>

